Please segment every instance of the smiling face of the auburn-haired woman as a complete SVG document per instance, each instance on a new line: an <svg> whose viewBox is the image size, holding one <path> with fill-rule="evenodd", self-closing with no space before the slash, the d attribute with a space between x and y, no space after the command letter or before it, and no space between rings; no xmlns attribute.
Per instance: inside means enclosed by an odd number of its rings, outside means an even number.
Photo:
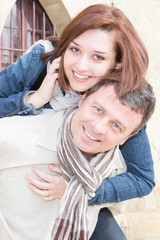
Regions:
<svg viewBox="0 0 160 240"><path fill-rule="evenodd" d="M64 71L72 90L84 92L115 67L114 33L92 29L75 38L64 54Z"/></svg>

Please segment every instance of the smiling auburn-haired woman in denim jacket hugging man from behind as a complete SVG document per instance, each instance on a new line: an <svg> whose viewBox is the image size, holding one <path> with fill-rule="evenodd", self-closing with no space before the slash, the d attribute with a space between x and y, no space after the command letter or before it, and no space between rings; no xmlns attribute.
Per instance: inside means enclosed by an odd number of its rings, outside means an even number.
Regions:
<svg viewBox="0 0 160 240"><path fill-rule="evenodd" d="M52 38L52 43L54 49L50 42L42 43L52 51L45 53L45 47L37 44L0 73L1 117L38 114L48 102L56 110L63 108L66 101L68 107L79 100L76 92L84 92L106 76L121 82L120 93L134 90L142 84L148 67L143 43L129 20L114 7L100 4L86 8L68 24L60 39ZM49 61L53 64L40 86L36 79ZM55 93L57 77L61 88ZM36 85L40 86L38 90ZM31 89L37 91L30 92ZM128 171L106 179L90 204L120 202L142 197L152 190L153 161L145 129L121 150Z"/></svg>

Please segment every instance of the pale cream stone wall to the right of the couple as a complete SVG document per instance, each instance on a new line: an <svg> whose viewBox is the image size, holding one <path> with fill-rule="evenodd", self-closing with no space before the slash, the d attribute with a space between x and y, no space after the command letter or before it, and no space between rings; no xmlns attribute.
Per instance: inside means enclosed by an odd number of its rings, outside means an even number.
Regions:
<svg viewBox="0 0 160 240"><path fill-rule="evenodd" d="M155 168L156 186L151 194L125 203L125 213L119 216L128 240L160 240L160 1L116 1L139 32L149 53L148 81L157 97L156 110L148 123Z"/></svg>

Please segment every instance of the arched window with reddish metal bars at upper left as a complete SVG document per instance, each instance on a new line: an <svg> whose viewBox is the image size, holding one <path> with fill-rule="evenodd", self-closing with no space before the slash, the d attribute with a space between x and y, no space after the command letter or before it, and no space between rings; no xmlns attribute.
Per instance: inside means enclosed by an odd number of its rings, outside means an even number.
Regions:
<svg viewBox="0 0 160 240"><path fill-rule="evenodd" d="M37 40L55 35L55 27L38 0L17 0L0 40L0 70L17 59Z"/></svg>

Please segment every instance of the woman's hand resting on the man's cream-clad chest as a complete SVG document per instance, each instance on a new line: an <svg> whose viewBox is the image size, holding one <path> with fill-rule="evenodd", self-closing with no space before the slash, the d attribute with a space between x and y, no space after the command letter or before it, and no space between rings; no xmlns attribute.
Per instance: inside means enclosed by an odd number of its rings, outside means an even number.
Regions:
<svg viewBox="0 0 160 240"><path fill-rule="evenodd" d="M49 168L54 173L58 174L53 176L33 168L32 171L43 181L37 180L30 175L25 176L25 178L30 182L28 187L47 202L62 198L66 190L65 180L62 176L60 168L54 165L49 165Z"/></svg>

